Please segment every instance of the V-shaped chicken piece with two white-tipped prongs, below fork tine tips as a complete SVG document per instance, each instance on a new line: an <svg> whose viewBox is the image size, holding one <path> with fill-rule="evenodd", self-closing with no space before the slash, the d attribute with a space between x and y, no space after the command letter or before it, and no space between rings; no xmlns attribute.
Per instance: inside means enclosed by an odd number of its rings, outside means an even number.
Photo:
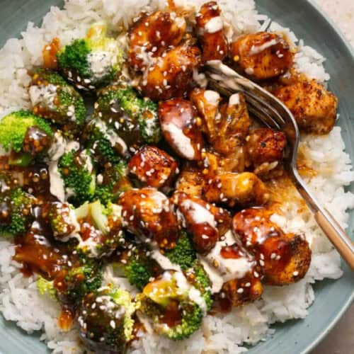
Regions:
<svg viewBox="0 0 354 354"><path fill-rule="evenodd" d="M205 134L215 151L222 155L236 152L244 143L251 125L244 96L235 93L220 107L220 96L215 91L195 89L190 98L198 108Z"/></svg>

